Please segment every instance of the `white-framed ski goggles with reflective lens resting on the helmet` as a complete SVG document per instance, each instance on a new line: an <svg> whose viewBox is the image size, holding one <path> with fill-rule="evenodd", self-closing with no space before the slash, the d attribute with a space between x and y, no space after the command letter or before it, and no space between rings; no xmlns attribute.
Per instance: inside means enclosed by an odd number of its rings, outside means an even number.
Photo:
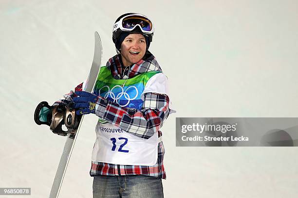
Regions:
<svg viewBox="0 0 298 198"><path fill-rule="evenodd" d="M124 16L123 18L121 18L118 22L114 24L113 31L119 28L122 31L132 31L137 26L140 27L143 33L148 33L148 34L153 33L153 24L149 20L149 18L143 15L136 15L136 14Z"/></svg>

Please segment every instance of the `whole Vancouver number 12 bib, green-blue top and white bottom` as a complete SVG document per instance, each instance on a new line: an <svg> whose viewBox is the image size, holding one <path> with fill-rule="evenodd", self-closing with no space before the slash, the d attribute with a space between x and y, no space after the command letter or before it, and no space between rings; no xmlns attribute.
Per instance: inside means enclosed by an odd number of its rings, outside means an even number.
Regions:
<svg viewBox="0 0 298 198"><path fill-rule="evenodd" d="M145 93L168 95L168 78L161 72L151 71L128 80L115 80L107 67L101 67L100 74L94 86L94 94L116 102L122 107L140 110L144 103ZM126 85L121 86L124 83ZM171 101L169 108L170 113L175 112L171 107ZM137 127L134 128L138 130ZM146 140L127 133L113 124L99 121L95 132L93 162L145 166L157 163L157 147L160 141L158 132Z"/></svg>

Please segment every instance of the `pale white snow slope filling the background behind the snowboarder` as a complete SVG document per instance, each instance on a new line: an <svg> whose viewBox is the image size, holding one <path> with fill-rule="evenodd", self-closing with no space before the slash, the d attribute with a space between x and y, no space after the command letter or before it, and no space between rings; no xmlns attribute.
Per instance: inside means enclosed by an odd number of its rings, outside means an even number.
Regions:
<svg viewBox="0 0 298 198"><path fill-rule="evenodd" d="M297 148L175 147L175 117L298 116L297 0L1 0L0 187L48 197L65 138L37 126L34 110L87 77L95 31L105 65L127 12L152 18L150 51L177 110L162 130L165 197L297 197ZM92 197L96 120L84 118L59 198Z"/></svg>

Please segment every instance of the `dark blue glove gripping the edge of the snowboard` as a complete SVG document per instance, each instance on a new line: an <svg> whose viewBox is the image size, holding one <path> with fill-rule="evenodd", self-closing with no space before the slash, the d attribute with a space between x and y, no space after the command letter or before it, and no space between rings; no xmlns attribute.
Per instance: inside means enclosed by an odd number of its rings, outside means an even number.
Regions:
<svg viewBox="0 0 298 198"><path fill-rule="evenodd" d="M75 94L79 96L73 99L75 102L74 108L79 109L76 114L95 114L95 106L99 97L86 91L76 91Z"/></svg>

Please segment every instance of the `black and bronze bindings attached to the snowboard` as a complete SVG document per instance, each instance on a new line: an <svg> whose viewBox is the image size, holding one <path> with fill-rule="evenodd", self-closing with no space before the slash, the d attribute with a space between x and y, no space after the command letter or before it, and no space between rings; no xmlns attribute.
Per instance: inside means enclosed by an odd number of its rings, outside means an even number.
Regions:
<svg viewBox="0 0 298 198"><path fill-rule="evenodd" d="M50 130L61 136L75 137L75 132L81 120L81 115L75 114L74 103L63 100L59 104L50 106L48 102L40 102L34 113L34 120L38 125L48 125ZM67 131L62 129L65 125Z"/></svg>

